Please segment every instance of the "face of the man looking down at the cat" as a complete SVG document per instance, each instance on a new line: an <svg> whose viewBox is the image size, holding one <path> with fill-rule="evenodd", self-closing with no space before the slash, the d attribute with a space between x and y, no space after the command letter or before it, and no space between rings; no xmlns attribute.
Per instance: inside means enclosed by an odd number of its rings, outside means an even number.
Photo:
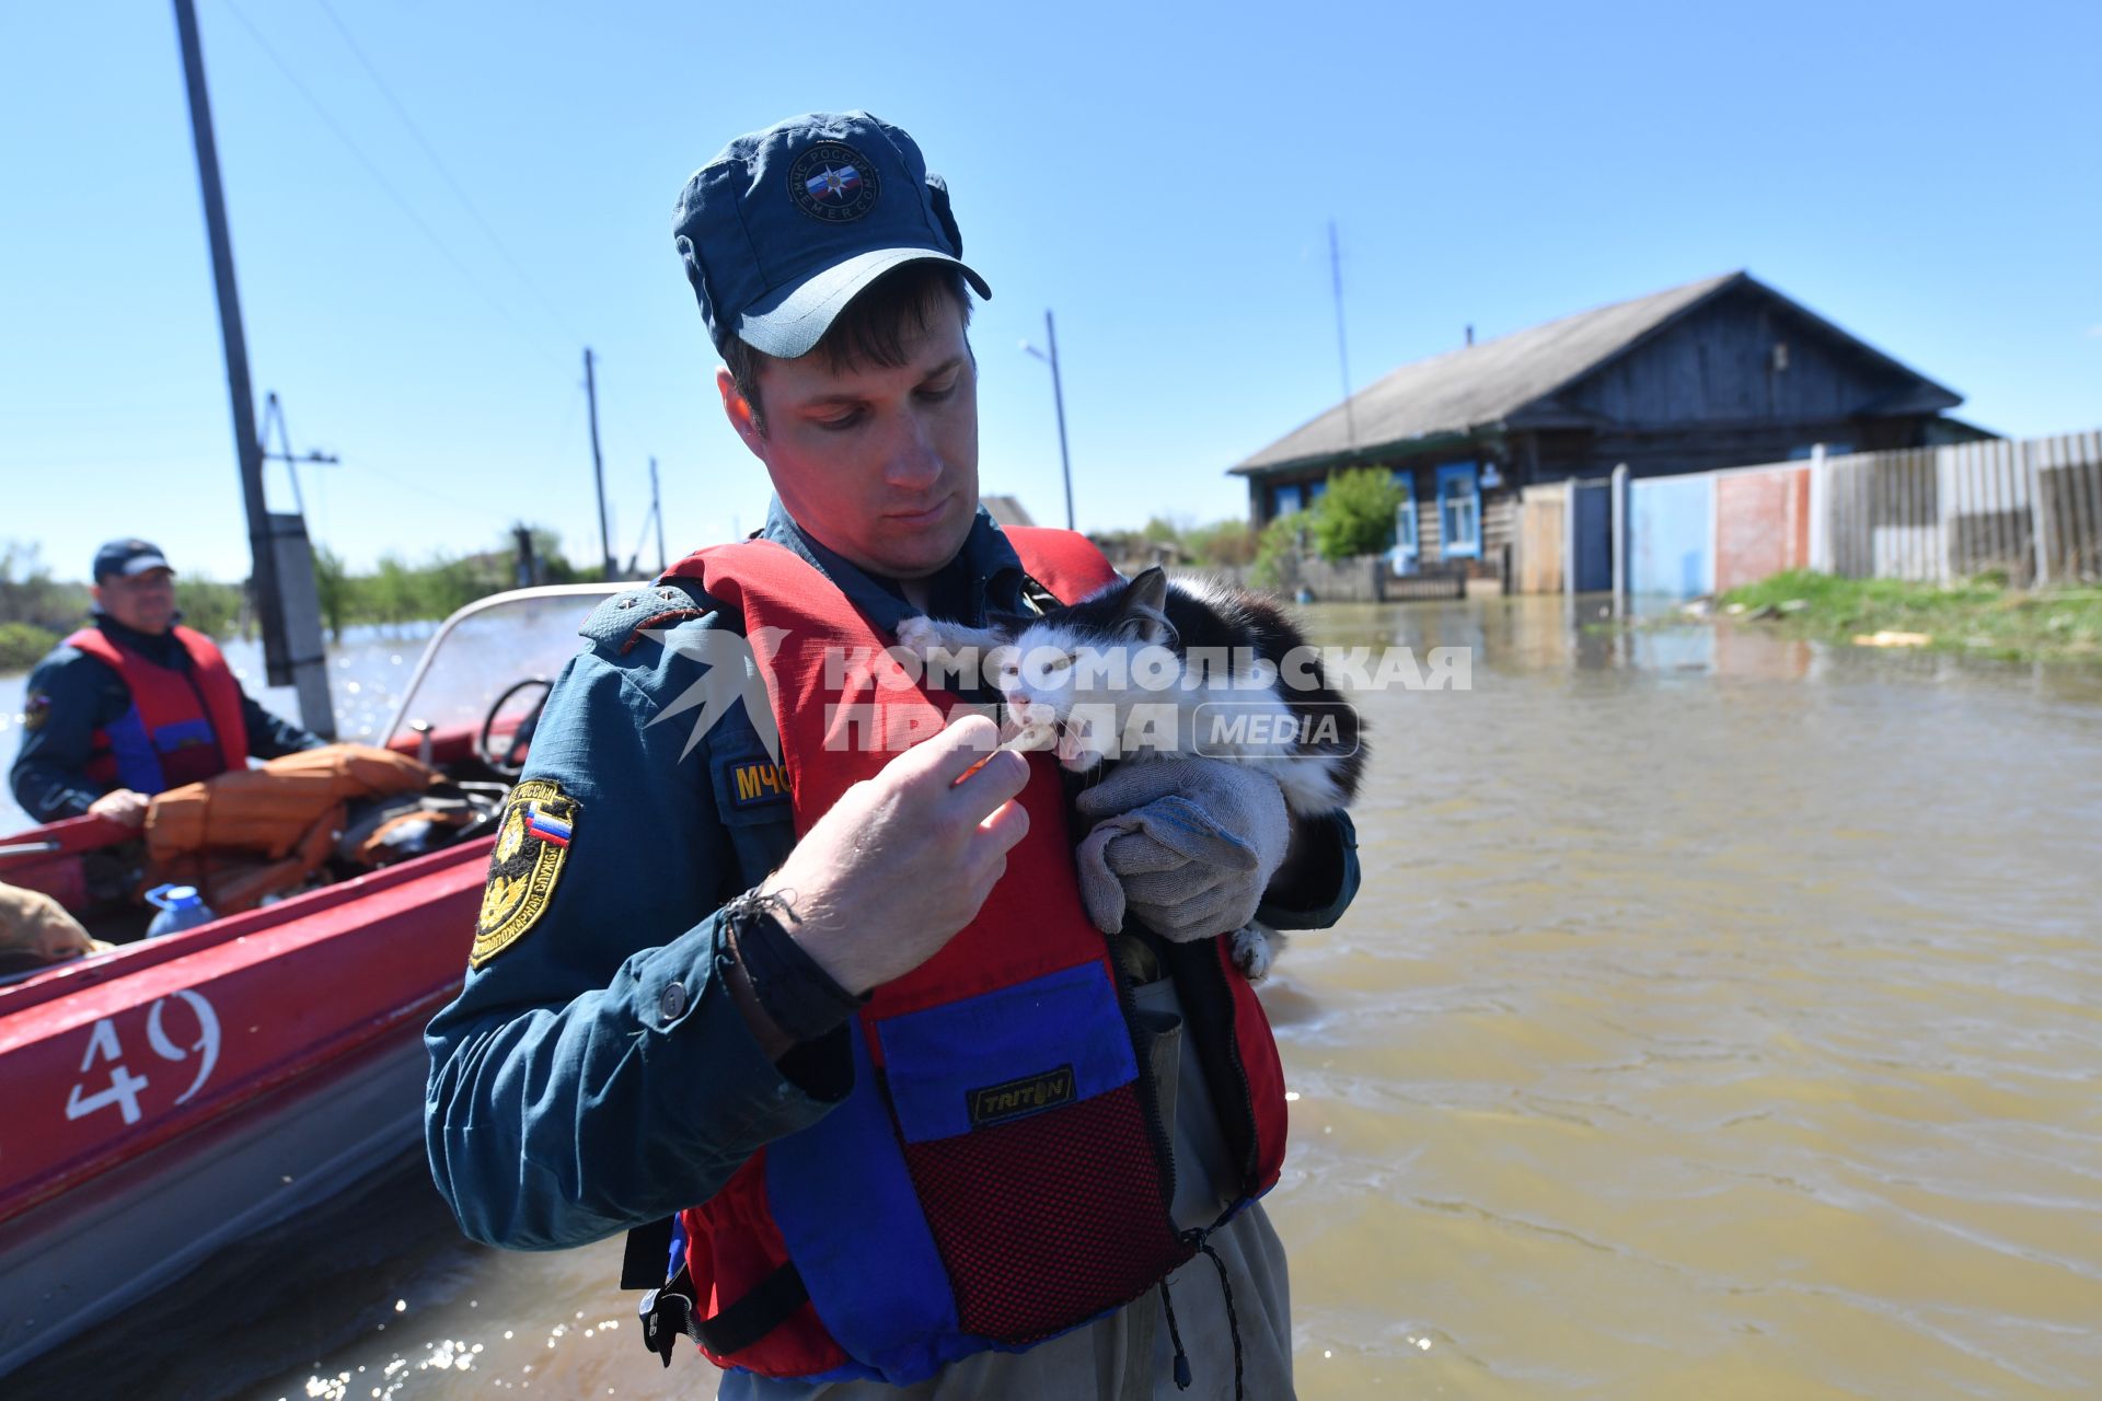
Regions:
<svg viewBox="0 0 2102 1401"><path fill-rule="evenodd" d="M916 580L954 559L977 515L977 365L954 300L906 326L904 361L765 361L765 433L727 370L717 384L797 525L870 573Z"/></svg>

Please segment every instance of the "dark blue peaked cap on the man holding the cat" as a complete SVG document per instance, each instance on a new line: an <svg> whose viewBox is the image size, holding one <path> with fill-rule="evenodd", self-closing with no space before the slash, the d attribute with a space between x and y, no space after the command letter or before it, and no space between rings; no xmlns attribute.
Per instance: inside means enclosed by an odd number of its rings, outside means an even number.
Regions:
<svg viewBox="0 0 2102 1401"><path fill-rule="evenodd" d="M919 145L866 111L811 111L738 137L679 191L673 242L717 349L795 359L904 263L963 265L948 187Z"/></svg>

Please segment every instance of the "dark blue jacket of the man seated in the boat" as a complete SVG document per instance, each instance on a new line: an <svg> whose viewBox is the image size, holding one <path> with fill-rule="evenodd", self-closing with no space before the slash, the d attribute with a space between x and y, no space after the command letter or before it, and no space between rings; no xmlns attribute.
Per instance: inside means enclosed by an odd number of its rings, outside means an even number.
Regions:
<svg viewBox="0 0 2102 1401"><path fill-rule="evenodd" d="M95 615L95 626L153 666L189 670L189 653L166 632L160 636L135 632L105 613ZM122 676L84 651L55 647L29 672L27 725L15 767L8 771L15 802L38 821L86 813L90 802L109 792L107 783L86 775L90 739L126 710L130 710L130 687ZM322 744L317 735L273 716L248 691L242 691L242 718L248 723L248 752L254 758L277 758Z"/></svg>

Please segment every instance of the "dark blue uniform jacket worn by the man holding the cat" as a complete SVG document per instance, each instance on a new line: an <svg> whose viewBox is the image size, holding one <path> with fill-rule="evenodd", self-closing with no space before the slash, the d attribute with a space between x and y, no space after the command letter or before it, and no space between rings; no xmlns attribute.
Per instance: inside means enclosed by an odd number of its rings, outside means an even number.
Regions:
<svg viewBox="0 0 2102 1401"><path fill-rule="evenodd" d="M879 628L916 611L778 502L761 534ZM982 626L988 605L1024 611L1019 590L1013 546L982 510L931 611ZM786 796L755 802L731 781L763 758L742 708L687 752L696 716L677 702L702 670L692 641L742 626L713 609L671 584L603 603L534 733L526 777L576 800L565 865L538 922L467 975L425 1038L431 1172L479 1241L555 1250L662 1220L851 1086L845 1029L776 1065L717 973L717 909L786 859L795 830ZM698 615L637 630L666 611ZM1322 888L1272 888L1265 922L1322 928L1349 903L1356 838L1345 817L1328 828L1307 882Z"/></svg>

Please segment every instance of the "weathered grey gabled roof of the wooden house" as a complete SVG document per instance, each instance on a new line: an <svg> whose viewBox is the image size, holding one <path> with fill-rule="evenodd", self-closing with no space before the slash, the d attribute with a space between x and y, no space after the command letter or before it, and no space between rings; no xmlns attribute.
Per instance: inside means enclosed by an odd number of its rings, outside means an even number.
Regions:
<svg viewBox="0 0 2102 1401"><path fill-rule="evenodd" d="M1347 414L1345 405L1337 403L1232 471L1261 473L1352 454L1377 454L1398 443L1448 435L1465 437L1476 428L1501 424L1738 284L1785 302L1793 313L1839 336L1858 353L1919 378L1917 372L1898 365L1888 355L1738 271L1703 277L1612 307L1579 311L1545 326L1402 365L1352 395ZM1928 391L1938 391L1944 405L1959 401L1957 395L1932 380L1921 378L1921 384ZM1356 426L1356 435L1352 435L1352 426Z"/></svg>

